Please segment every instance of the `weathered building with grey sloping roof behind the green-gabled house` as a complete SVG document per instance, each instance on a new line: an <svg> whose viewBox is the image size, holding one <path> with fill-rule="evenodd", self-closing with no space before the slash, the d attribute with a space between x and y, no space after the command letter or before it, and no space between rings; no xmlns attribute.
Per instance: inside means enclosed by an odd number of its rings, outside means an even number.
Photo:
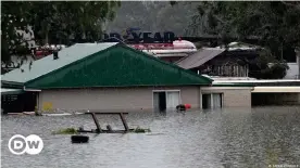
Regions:
<svg viewBox="0 0 300 168"><path fill-rule="evenodd" d="M222 48L202 48L176 64L185 69L210 76L248 77L248 62L257 56L257 50L248 48L232 48L227 51Z"/></svg>

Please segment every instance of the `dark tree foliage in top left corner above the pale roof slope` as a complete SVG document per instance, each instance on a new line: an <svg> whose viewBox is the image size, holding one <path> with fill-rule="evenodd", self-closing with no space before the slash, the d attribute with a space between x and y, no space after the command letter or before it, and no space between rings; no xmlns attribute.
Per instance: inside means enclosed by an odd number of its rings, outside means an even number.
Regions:
<svg viewBox="0 0 300 168"><path fill-rule="evenodd" d="M3 1L1 2L1 59L30 53L16 34L33 26L39 44L99 40L102 24L114 17L117 1ZM21 43L25 43L21 46Z"/></svg>

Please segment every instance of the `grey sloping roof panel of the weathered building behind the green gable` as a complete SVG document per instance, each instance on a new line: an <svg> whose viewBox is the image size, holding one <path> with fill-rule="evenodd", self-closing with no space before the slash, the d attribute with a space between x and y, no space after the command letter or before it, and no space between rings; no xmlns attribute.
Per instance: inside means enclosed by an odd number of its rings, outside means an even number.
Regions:
<svg viewBox="0 0 300 168"><path fill-rule="evenodd" d="M178 61L176 64L185 69L195 68L207 63L224 51L225 49L203 48L200 51Z"/></svg>

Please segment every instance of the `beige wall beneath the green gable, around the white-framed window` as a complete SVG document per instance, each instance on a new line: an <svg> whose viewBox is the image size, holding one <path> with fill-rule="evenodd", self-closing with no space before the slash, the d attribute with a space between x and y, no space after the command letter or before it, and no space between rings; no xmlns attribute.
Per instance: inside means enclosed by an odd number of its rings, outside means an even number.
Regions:
<svg viewBox="0 0 300 168"><path fill-rule="evenodd" d="M42 90L39 109L152 111L153 90L180 90L182 103L200 107L199 87Z"/></svg>

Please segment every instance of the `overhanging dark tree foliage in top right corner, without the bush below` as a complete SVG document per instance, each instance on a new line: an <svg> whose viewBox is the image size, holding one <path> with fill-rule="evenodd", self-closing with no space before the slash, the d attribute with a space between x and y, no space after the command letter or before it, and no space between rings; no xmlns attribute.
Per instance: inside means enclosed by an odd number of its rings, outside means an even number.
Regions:
<svg viewBox="0 0 300 168"><path fill-rule="evenodd" d="M300 2L201 2L198 16L207 33L243 39L254 36L278 56L283 46L300 44ZM200 20L196 21L201 25ZM202 24L203 25L203 24Z"/></svg>

